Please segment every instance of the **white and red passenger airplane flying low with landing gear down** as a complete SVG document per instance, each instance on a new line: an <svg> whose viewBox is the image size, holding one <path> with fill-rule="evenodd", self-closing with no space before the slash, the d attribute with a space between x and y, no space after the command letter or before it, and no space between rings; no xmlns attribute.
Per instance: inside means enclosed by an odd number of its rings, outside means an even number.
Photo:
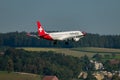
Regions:
<svg viewBox="0 0 120 80"><path fill-rule="evenodd" d="M27 33L27 36L36 37L38 39L43 38L46 40L51 40L54 41L54 44L56 44L57 41L66 41L65 44L68 44L69 40L77 42L80 40L80 38L86 35L86 32L83 31L65 31L65 32L47 33L44 30L43 26L41 25L40 21L37 21L37 27L38 27L38 35Z"/></svg>

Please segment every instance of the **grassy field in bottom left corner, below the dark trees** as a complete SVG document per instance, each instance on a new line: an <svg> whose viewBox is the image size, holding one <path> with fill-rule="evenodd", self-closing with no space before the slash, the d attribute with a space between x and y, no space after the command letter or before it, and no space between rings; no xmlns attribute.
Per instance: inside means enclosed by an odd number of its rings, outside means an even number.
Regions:
<svg viewBox="0 0 120 80"><path fill-rule="evenodd" d="M0 71L0 80L42 80L39 75Z"/></svg>

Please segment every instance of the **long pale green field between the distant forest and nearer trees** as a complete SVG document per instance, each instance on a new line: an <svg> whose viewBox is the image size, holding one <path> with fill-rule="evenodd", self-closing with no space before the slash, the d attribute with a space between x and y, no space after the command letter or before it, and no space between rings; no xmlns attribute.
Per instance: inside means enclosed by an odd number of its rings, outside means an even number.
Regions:
<svg viewBox="0 0 120 80"><path fill-rule="evenodd" d="M20 48L18 48L20 49ZM71 55L74 57L81 57L87 55L92 57L94 54L101 55L111 55L116 54L116 58L120 59L120 49L110 49L110 48L94 48L94 47L81 47L81 48L32 48L24 47L22 48L27 51L53 51L56 53L63 53L65 55Z"/></svg>

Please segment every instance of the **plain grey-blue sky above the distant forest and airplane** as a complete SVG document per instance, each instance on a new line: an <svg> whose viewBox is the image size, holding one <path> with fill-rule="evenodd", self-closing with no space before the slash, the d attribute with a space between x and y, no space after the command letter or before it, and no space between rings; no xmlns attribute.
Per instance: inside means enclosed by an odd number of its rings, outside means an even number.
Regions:
<svg viewBox="0 0 120 80"><path fill-rule="evenodd" d="M120 0L0 0L0 33L81 30L120 34Z"/></svg>

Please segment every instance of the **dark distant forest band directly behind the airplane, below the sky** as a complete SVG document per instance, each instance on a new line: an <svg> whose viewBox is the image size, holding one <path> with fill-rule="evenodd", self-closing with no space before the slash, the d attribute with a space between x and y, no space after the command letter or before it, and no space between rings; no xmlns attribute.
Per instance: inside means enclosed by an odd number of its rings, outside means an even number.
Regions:
<svg viewBox="0 0 120 80"><path fill-rule="evenodd" d="M34 33L34 32L33 32ZM34 33L37 34L37 33ZM78 42L69 41L58 42L37 39L26 36L26 32L0 33L0 46L10 47L103 47L103 48L120 48L120 35L99 35L88 33Z"/></svg>

